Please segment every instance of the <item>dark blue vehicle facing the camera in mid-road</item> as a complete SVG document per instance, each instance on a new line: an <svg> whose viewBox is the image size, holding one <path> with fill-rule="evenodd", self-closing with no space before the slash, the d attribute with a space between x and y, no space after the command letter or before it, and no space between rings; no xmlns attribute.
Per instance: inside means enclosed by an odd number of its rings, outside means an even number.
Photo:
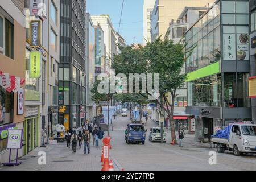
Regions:
<svg viewBox="0 0 256 182"><path fill-rule="evenodd" d="M146 132L144 125L141 124L128 124L125 131L125 141L130 143L145 144Z"/></svg>

